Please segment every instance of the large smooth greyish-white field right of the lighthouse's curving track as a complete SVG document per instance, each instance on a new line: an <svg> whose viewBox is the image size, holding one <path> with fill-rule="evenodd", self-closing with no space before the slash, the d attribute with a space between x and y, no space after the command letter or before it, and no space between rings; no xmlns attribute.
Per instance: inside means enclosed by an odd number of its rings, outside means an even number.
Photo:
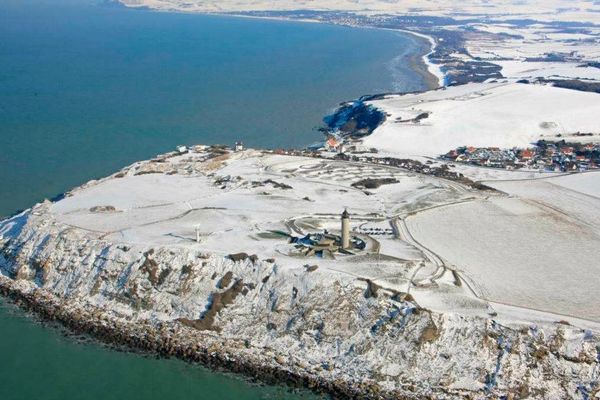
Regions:
<svg viewBox="0 0 600 400"><path fill-rule="evenodd" d="M484 298L600 321L600 235L560 211L501 198L437 208L407 223Z"/></svg>

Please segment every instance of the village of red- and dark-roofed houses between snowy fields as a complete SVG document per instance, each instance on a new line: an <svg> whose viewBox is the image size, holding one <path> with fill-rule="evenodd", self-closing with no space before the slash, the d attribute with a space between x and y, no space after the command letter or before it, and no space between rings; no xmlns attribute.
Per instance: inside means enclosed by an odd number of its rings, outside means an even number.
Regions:
<svg viewBox="0 0 600 400"><path fill-rule="evenodd" d="M600 165L600 143L540 140L527 149L463 146L443 159L483 167L535 169L548 172L586 171Z"/></svg>

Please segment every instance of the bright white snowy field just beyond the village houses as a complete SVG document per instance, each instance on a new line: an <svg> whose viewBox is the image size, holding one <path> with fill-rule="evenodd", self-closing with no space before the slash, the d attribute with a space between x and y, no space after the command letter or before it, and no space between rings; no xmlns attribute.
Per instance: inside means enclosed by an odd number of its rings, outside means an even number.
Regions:
<svg viewBox="0 0 600 400"><path fill-rule="evenodd" d="M600 134L599 99L596 93L515 82L390 95L370 103L388 117L364 144L389 153L438 156L459 146L528 147L541 138L560 140L558 134ZM410 121L424 113L427 118Z"/></svg>

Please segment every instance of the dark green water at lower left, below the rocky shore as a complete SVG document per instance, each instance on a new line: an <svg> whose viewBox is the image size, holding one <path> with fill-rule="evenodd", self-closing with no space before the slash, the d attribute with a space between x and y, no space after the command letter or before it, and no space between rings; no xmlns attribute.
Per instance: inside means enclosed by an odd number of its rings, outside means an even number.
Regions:
<svg viewBox="0 0 600 400"><path fill-rule="evenodd" d="M259 386L175 359L119 352L65 336L0 298L1 399L320 399Z"/></svg>

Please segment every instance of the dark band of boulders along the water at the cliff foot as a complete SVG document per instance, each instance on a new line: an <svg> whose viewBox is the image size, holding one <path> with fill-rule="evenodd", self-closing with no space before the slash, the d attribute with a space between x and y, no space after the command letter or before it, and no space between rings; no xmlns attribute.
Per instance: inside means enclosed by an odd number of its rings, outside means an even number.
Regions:
<svg viewBox="0 0 600 400"><path fill-rule="evenodd" d="M375 381L371 384L365 381L348 382L301 373L291 363L286 365L277 355L263 355L262 358L250 352L240 355L246 346L241 339L238 339L239 343L231 343L230 338L225 340L218 334L198 331L181 323L151 323L148 320L126 322L96 306L59 299L42 288L2 274L0 295L19 309L34 313L42 321L57 322L72 333L88 335L108 346L122 346L145 355L173 357L216 372L256 379L262 384L308 390L316 395L328 395L340 400L413 399L396 391L385 392ZM232 346L235 344L237 346Z"/></svg>

